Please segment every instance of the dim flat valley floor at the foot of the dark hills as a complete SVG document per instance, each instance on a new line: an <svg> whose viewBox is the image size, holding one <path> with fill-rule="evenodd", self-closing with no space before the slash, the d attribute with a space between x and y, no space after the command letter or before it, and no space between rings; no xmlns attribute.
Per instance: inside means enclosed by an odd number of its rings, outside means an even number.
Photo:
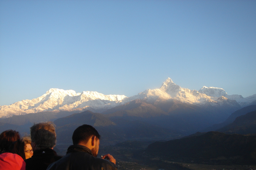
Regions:
<svg viewBox="0 0 256 170"><path fill-rule="evenodd" d="M126 143L127 145L127 143ZM68 145L57 146L59 155L65 155ZM145 154L147 143L139 147L104 146L98 156L109 153L116 159L118 170L256 170L255 165L210 165L174 162L152 158Z"/></svg>

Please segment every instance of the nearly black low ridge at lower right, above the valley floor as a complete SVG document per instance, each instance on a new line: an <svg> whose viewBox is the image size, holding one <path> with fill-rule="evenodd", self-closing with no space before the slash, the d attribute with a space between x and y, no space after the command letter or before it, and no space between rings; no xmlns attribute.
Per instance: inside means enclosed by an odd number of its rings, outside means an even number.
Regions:
<svg viewBox="0 0 256 170"><path fill-rule="evenodd" d="M216 131L199 136L155 142L146 152L169 160L248 164L255 162L255 135L225 134Z"/></svg>

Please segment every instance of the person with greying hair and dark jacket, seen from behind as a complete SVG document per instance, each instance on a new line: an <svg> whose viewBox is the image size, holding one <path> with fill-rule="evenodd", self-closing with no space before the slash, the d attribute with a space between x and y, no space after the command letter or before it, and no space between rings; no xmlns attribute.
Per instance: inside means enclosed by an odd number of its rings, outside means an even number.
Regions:
<svg viewBox="0 0 256 170"><path fill-rule="evenodd" d="M31 146L34 154L31 158L25 159L26 170L46 170L48 165L59 160L53 150L56 145L56 132L53 122L42 122L34 124L30 128Z"/></svg>

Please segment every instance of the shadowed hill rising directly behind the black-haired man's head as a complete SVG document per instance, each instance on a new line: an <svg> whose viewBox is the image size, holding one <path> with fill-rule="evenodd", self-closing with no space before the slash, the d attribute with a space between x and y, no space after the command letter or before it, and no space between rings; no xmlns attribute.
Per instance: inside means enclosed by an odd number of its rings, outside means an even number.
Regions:
<svg viewBox="0 0 256 170"><path fill-rule="evenodd" d="M109 145L126 140L162 140L173 136L171 130L143 121L112 120L107 115L85 111L54 121L58 143L72 143L73 131L83 124L92 125L101 135L101 144Z"/></svg>

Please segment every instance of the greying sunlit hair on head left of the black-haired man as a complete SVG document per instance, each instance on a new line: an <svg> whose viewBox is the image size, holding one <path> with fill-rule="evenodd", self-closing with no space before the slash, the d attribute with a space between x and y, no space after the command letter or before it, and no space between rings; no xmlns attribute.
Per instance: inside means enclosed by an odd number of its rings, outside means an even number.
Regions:
<svg viewBox="0 0 256 170"><path fill-rule="evenodd" d="M52 148L56 145L56 132L53 122L34 124L30 128L31 142L40 149Z"/></svg>

